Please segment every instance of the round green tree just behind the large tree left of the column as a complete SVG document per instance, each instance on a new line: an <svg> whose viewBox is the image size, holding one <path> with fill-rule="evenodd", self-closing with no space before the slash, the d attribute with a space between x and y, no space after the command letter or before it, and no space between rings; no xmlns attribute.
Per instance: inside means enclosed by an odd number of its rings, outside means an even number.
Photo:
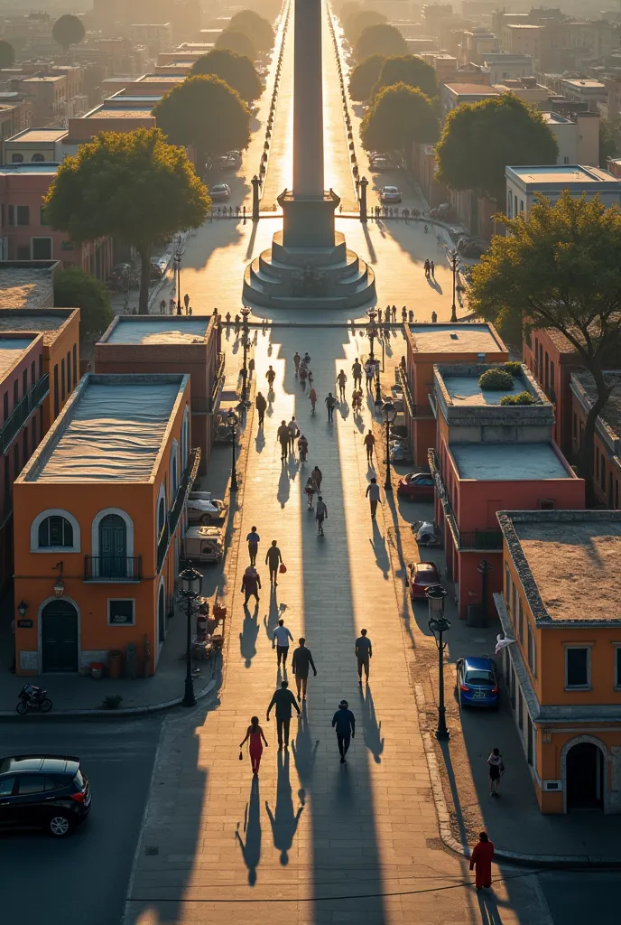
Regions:
<svg viewBox="0 0 621 925"><path fill-rule="evenodd" d="M207 157L247 148L250 113L237 91L211 75L189 77L153 109L170 142L196 149L202 172Z"/></svg>

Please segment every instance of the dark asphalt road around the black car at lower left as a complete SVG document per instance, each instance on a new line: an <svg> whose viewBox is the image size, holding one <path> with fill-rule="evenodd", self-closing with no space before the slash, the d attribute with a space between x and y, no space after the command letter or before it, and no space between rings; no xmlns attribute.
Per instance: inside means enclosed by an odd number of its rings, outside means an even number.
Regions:
<svg viewBox="0 0 621 925"><path fill-rule="evenodd" d="M88 820L65 841L0 835L2 919L118 925L149 793L161 720L6 722L0 754L77 755L91 779Z"/></svg>

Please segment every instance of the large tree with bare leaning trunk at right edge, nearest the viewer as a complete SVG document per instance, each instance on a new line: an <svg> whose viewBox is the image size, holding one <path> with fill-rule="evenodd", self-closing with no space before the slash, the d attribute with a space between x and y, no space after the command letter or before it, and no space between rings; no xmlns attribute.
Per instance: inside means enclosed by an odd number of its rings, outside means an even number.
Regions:
<svg viewBox="0 0 621 925"><path fill-rule="evenodd" d="M501 330L553 328L565 335L591 373L597 399L587 416L578 473L587 504L595 500L593 454L597 417L614 384L604 376L621 356L621 210L572 199L566 190L552 204L541 196L528 216L504 219L472 270L469 306ZM610 368L608 366L608 368Z"/></svg>

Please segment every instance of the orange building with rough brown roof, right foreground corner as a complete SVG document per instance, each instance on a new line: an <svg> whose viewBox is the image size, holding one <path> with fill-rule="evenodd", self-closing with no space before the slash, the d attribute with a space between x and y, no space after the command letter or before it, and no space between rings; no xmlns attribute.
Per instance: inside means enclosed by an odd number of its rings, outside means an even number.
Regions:
<svg viewBox="0 0 621 925"><path fill-rule="evenodd" d="M494 595L540 808L621 812L621 512L508 511Z"/></svg>

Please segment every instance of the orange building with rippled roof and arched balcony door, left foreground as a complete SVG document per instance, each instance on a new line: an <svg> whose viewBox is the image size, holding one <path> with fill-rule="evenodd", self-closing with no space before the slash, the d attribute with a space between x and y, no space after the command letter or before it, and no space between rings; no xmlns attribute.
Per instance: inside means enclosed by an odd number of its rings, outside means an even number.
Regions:
<svg viewBox="0 0 621 925"><path fill-rule="evenodd" d="M18 674L155 672L199 456L189 376L80 380L14 487Z"/></svg>

